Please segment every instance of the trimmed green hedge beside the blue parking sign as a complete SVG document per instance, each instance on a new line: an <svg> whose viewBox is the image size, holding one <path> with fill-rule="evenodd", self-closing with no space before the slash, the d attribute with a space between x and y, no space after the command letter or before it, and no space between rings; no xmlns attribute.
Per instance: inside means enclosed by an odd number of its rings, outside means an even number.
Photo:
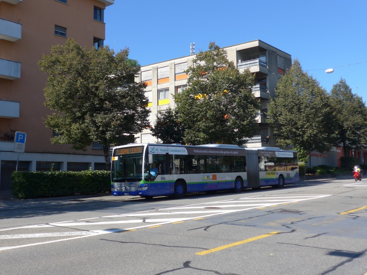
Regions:
<svg viewBox="0 0 367 275"><path fill-rule="evenodd" d="M17 199L61 197L111 191L110 173L104 170L15 171L11 175L13 197Z"/></svg>

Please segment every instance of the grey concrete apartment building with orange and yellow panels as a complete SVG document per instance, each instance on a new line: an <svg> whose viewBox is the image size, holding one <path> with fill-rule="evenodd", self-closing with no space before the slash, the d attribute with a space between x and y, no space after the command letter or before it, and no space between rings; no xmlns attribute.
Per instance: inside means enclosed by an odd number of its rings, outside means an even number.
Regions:
<svg viewBox="0 0 367 275"><path fill-rule="evenodd" d="M224 47L223 49L227 52L228 60L237 64L240 72L249 68L255 74L255 85L252 91L261 102L261 110L259 110L257 117L260 131L257 136L248 140L247 147L277 147L272 128L266 123L264 111L270 97L275 95L277 81L292 64L291 55L261 40ZM137 81L145 81L148 84L146 96L150 101L148 106L152 110L151 124L156 120L159 111L166 110L168 106L175 107L172 94L187 87L187 74L183 71L188 66L192 66L193 58L195 58L195 54L141 67L141 75ZM136 137L137 142L157 142L149 129L144 129Z"/></svg>

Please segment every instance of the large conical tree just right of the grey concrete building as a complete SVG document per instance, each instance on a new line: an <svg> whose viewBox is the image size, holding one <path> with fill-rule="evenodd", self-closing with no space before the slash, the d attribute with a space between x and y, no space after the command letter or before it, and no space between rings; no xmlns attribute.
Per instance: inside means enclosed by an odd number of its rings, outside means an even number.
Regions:
<svg viewBox="0 0 367 275"><path fill-rule="evenodd" d="M293 144L310 153L328 151L335 143L337 127L328 94L298 59L279 79L268 115L281 146Z"/></svg>

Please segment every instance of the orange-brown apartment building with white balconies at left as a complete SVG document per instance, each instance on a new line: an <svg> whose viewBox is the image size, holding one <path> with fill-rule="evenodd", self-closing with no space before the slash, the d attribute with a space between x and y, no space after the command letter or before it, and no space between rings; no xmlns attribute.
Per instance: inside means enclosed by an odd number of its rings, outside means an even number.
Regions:
<svg viewBox="0 0 367 275"><path fill-rule="evenodd" d="M0 189L10 188L14 132L25 132L25 153L18 170L104 169L101 146L88 151L70 145L52 145L52 131L43 118L52 112L43 105L47 74L37 62L52 45L73 38L82 46L97 48L105 39L104 10L114 0L0 0Z"/></svg>

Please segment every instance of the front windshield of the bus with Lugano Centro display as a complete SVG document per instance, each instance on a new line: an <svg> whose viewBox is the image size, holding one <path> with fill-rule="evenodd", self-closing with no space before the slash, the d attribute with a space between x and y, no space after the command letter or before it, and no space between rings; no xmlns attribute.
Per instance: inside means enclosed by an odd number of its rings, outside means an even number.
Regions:
<svg viewBox="0 0 367 275"><path fill-rule="evenodd" d="M116 149L112 157L111 179L141 181L143 178L143 147Z"/></svg>

